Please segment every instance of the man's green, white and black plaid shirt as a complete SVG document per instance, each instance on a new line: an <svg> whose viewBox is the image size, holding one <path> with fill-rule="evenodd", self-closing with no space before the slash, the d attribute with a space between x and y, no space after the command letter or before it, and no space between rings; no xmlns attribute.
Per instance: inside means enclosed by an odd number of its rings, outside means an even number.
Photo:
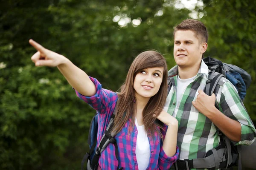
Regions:
<svg viewBox="0 0 256 170"><path fill-rule="evenodd" d="M169 70L172 88L168 94L164 110L174 116L178 122L177 146L180 148L179 159L204 158L206 152L219 144L215 125L192 105L198 90L204 90L209 76L207 65L202 60L201 67L194 81L190 83L176 101L177 65ZM220 111L241 124L241 141L236 144L252 144L255 140L255 127L241 102L235 87L227 80L224 85L216 88L216 101Z"/></svg>

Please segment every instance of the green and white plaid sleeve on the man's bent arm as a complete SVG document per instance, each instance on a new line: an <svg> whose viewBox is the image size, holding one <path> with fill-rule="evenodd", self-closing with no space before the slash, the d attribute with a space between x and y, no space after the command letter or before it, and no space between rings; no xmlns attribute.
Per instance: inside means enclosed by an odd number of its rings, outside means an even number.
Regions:
<svg viewBox="0 0 256 170"><path fill-rule="evenodd" d="M241 124L241 141L234 144L252 144L256 138L255 127L231 82L224 83L219 106L222 113Z"/></svg>

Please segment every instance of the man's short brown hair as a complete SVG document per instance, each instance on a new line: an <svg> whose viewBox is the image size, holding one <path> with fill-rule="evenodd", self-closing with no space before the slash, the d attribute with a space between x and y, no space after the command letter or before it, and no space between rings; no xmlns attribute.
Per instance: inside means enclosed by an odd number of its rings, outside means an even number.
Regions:
<svg viewBox="0 0 256 170"><path fill-rule="evenodd" d="M208 31L204 24L198 20L186 19L177 25L173 31L173 37L175 37L176 31L194 31L195 37L199 40L199 43L208 41Z"/></svg>

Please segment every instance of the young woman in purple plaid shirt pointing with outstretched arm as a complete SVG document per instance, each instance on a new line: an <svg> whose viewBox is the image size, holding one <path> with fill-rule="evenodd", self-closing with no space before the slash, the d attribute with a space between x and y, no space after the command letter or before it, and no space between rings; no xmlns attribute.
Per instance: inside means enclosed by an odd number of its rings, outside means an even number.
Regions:
<svg viewBox="0 0 256 170"><path fill-rule="evenodd" d="M98 111L97 146L115 109L113 132L119 160L114 156L114 144L110 143L99 157L99 170L167 170L177 160L178 122L163 111L168 77L166 60L161 54L139 54L117 94L102 88L95 78L88 77L66 57L33 40L29 43L38 50L31 57L36 66L57 66L76 89L77 96ZM156 119L163 125L157 124Z"/></svg>

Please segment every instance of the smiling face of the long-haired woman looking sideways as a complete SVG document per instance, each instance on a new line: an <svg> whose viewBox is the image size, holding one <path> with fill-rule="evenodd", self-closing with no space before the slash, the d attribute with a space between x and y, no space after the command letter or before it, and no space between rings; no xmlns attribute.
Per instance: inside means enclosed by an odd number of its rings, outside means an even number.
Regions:
<svg viewBox="0 0 256 170"><path fill-rule="evenodd" d="M134 79L136 99L150 99L157 94L163 80L163 67L145 68Z"/></svg>

